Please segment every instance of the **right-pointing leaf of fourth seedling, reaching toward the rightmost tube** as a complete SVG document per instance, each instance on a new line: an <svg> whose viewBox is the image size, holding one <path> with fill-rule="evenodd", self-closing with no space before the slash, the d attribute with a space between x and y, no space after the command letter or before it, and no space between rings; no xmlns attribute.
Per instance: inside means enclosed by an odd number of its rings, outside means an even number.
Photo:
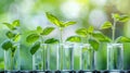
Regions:
<svg viewBox="0 0 130 73"><path fill-rule="evenodd" d="M100 41L107 41L107 42L112 41L110 38L108 38L104 34L102 34L101 32L94 32L94 33L92 33L92 36Z"/></svg>

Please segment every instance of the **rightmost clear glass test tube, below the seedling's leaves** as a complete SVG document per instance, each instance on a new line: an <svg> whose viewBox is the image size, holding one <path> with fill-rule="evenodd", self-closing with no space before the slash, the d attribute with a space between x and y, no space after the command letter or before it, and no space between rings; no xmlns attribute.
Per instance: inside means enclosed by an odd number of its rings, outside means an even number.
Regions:
<svg viewBox="0 0 130 73"><path fill-rule="evenodd" d="M107 70L123 69L123 47L122 44L107 45Z"/></svg>

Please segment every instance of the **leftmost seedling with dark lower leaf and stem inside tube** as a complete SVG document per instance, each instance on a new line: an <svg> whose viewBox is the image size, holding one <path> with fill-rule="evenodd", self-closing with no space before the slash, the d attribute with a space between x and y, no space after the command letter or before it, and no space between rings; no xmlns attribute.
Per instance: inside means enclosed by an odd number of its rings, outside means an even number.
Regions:
<svg viewBox="0 0 130 73"><path fill-rule="evenodd" d="M14 54L16 52L16 49L18 49L18 41L21 34L18 32L20 29L20 20L13 21L13 23L3 23L9 31L5 33L5 36L8 37L8 40L5 40L1 47L3 50L9 51L11 50L11 65L10 69L13 70L14 68Z"/></svg>

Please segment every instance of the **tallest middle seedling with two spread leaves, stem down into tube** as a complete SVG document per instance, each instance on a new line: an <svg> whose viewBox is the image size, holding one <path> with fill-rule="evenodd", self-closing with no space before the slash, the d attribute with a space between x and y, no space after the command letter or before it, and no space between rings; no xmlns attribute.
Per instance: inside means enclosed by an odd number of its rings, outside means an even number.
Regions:
<svg viewBox="0 0 130 73"><path fill-rule="evenodd" d="M58 27L58 29L60 29L60 44L63 44L63 42L64 42L64 41L63 41L63 32L64 32L64 29L65 29L67 26L70 26L70 25L76 24L76 22L74 22L74 21L63 22L63 21L60 21L55 15L53 15L53 14L51 14L51 13L49 13L49 12L47 12L46 14L47 14L48 20L49 20L52 24L54 24L54 25L56 25L56 26ZM61 46L57 51L58 51L58 54L57 54L57 61L56 61L56 63L57 63L56 69L57 69L57 70L60 70L60 69L65 69L65 64L64 64L64 61L65 61L65 60L64 60L64 56L65 56L65 53L64 53L63 46ZM63 54L63 56L62 56L62 54ZM61 64L60 62L62 62L62 64ZM62 66L63 66L63 68L62 68Z"/></svg>

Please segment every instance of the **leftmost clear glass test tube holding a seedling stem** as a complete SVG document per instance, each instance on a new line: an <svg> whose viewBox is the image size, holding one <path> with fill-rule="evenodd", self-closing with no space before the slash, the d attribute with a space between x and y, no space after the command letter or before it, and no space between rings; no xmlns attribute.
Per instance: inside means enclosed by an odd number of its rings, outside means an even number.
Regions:
<svg viewBox="0 0 130 73"><path fill-rule="evenodd" d="M4 70L18 71L21 70L20 60L20 45L15 49L14 53L11 49L4 50Z"/></svg>

